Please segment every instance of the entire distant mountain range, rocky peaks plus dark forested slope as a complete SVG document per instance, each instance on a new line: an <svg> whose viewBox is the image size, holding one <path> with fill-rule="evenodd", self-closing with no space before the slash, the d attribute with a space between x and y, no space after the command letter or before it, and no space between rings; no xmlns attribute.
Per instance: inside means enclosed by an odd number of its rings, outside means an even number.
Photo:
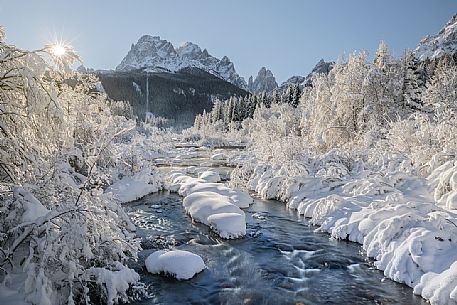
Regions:
<svg viewBox="0 0 457 305"><path fill-rule="evenodd" d="M421 61L456 52L457 14L437 35L422 39L413 51ZM284 91L290 85L311 86L313 75L327 74L333 65L334 62L321 59L306 76L292 76L281 85L269 69L262 67L257 76L251 76L246 83L226 56L216 58L192 42L175 47L158 36L144 35L132 44L115 71L96 73L108 96L129 100L140 118L151 111L189 126L197 113L211 109L216 98ZM146 83L150 89L148 96ZM146 100L151 109L145 108Z"/></svg>

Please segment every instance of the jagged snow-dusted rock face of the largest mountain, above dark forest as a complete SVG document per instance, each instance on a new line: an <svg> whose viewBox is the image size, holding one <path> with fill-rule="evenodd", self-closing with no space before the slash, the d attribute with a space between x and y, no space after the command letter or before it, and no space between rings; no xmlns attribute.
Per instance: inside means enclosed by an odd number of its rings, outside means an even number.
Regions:
<svg viewBox="0 0 457 305"><path fill-rule="evenodd" d="M224 56L218 59L201 50L191 42L175 49L167 40L158 36L142 36L116 67L117 71L132 71L146 68L151 72L176 72L186 67L196 67L214 74L242 89L246 89L245 80L235 70L233 63Z"/></svg>

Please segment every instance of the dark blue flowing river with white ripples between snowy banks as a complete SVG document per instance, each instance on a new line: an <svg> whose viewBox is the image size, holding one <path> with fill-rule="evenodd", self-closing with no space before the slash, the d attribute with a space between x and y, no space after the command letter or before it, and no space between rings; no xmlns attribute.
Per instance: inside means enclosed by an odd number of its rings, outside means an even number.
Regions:
<svg viewBox="0 0 457 305"><path fill-rule="evenodd" d="M190 159L181 166L208 165ZM214 167L221 176L229 169ZM247 234L223 240L192 223L182 197L148 195L127 205L142 239L135 266L151 298L136 304L427 304L412 289L385 279L360 245L329 238L275 200L244 209ZM188 281L149 274L144 259L167 248L200 255L207 269Z"/></svg>

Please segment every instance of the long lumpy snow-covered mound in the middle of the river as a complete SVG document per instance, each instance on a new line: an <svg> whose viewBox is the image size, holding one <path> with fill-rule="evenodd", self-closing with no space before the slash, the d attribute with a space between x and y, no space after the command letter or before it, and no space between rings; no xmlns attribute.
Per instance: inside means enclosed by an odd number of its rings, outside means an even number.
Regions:
<svg viewBox="0 0 457 305"><path fill-rule="evenodd" d="M249 207L254 200L245 192L204 180L215 176L214 172L205 171L200 178L193 178L174 171L169 173L166 187L184 196L184 209L194 221L209 226L222 238L242 237L246 235L246 220L240 208Z"/></svg>

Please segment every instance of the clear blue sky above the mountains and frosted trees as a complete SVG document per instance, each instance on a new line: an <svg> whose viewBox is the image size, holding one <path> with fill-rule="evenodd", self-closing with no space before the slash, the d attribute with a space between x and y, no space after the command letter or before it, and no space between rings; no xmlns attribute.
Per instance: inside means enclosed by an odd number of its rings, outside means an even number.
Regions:
<svg viewBox="0 0 457 305"><path fill-rule="evenodd" d="M141 35L159 35L227 55L246 80L266 66L278 83L321 58L372 55L381 39L401 55L455 13L457 0L0 0L8 42L25 49L61 38L86 66L113 69Z"/></svg>

